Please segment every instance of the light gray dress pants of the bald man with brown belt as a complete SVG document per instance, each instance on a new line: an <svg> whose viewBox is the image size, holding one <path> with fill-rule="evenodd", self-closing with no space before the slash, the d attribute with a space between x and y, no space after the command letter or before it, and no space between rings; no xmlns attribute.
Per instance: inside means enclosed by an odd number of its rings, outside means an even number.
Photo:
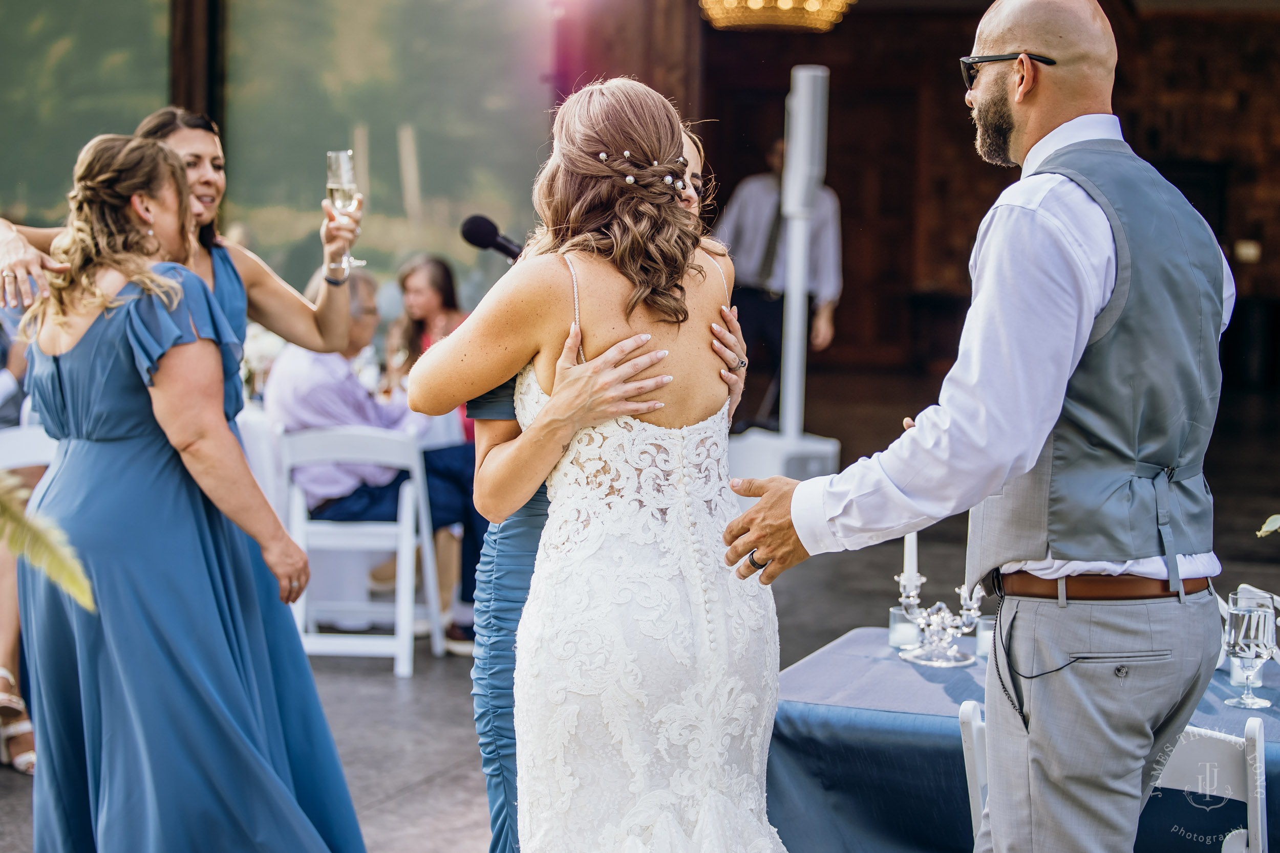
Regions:
<svg viewBox="0 0 1280 853"><path fill-rule="evenodd" d="M1009 596L995 633L974 850L1130 853L1155 775L1217 662L1212 588L1185 602L1065 607Z"/></svg>

